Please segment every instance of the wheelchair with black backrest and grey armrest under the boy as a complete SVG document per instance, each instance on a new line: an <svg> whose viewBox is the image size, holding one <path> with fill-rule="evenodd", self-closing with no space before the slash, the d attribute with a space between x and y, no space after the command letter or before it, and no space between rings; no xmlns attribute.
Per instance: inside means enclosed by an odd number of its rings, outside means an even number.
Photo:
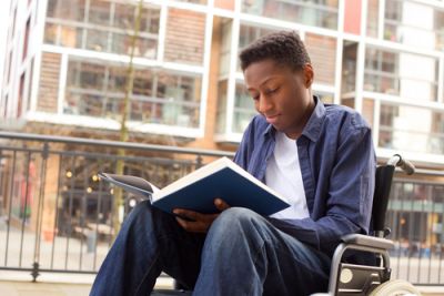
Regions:
<svg viewBox="0 0 444 296"><path fill-rule="evenodd" d="M394 246L394 243L386 238L391 231L384 226L384 223L396 167L401 167L408 175L413 174L415 170L413 164L402 159L400 154L393 155L385 165L376 167L372 208L373 234L343 236L342 243L336 247L332 258L329 292L311 296L421 295L408 282L391 279L389 249ZM376 265L345 263L343 258L346 251L375 254ZM191 292L181 289L176 284L174 286L174 290L157 289L151 295L191 295Z"/></svg>

